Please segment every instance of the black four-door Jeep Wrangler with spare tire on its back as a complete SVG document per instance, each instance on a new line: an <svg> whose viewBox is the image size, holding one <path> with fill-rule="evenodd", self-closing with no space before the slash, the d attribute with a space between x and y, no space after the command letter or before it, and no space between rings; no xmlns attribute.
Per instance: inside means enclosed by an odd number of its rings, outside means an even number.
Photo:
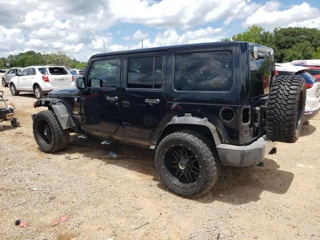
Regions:
<svg viewBox="0 0 320 240"><path fill-rule="evenodd" d="M299 76L276 76L273 50L214 42L93 55L76 88L57 89L34 107L33 134L45 152L69 133L155 149L173 192L198 196L220 165L261 164L276 141L295 142L305 105Z"/></svg>

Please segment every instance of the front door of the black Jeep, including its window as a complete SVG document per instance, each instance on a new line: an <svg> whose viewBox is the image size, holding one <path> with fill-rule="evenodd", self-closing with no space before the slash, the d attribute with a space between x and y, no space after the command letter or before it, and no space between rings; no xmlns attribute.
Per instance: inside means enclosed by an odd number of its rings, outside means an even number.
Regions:
<svg viewBox="0 0 320 240"><path fill-rule="evenodd" d="M89 62L87 88L81 98L85 127L114 133L120 123L121 55L96 58Z"/></svg>

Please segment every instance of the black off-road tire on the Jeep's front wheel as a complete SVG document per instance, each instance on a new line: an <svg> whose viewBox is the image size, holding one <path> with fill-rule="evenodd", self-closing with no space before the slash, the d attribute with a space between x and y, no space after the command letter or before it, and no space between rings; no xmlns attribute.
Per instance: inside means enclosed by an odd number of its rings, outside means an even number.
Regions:
<svg viewBox="0 0 320 240"><path fill-rule="evenodd" d="M44 123L47 124L52 136L49 143L45 141L44 135L40 131L41 124ZM51 153L67 147L70 131L69 129L62 129L56 115L52 111L46 110L40 111L35 115L33 120L33 135L40 149Z"/></svg>

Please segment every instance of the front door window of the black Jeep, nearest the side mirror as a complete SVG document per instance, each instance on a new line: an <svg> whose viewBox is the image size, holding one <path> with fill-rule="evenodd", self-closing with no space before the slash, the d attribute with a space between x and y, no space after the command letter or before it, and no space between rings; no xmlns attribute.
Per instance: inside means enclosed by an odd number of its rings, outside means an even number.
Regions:
<svg viewBox="0 0 320 240"><path fill-rule="evenodd" d="M88 87L116 87L116 59L94 61L88 74Z"/></svg>

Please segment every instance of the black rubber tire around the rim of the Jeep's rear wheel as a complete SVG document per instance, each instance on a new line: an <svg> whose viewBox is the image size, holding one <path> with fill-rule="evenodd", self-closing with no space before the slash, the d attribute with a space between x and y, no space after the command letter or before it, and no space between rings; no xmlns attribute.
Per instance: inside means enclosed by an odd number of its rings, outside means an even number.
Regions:
<svg viewBox="0 0 320 240"><path fill-rule="evenodd" d="M166 151L172 145L181 144L188 147L189 150L191 149L193 154L196 154L200 165L200 177L195 182L196 184L193 183L189 187L183 186L179 181L173 182L173 175L165 166L165 160L167 159L164 158L164 155ZM189 130L181 130L165 136L158 144L155 152L155 168L163 184L170 191L183 197L197 197L207 192L217 183L220 170L220 160L213 145L213 141L202 134Z"/></svg>

